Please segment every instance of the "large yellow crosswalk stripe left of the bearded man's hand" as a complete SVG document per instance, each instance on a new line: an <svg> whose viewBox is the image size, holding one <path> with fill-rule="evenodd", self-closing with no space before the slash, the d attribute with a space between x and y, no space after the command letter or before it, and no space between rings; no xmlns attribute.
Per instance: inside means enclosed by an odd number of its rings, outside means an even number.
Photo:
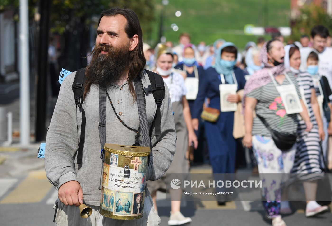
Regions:
<svg viewBox="0 0 332 226"><path fill-rule="evenodd" d="M48 182L44 170L31 171L0 204L40 202L51 187L52 185Z"/></svg>

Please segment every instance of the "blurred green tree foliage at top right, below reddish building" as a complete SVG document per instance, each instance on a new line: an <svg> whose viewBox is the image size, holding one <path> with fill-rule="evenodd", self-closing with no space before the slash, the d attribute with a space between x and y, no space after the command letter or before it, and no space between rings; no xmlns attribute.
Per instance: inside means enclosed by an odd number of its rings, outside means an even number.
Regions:
<svg viewBox="0 0 332 226"><path fill-rule="evenodd" d="M316 25L324 25L331 33L331 16L322 7L314 3L303 6L300 9L300 15L296 18L292 26L291 38L299 40L301 35L310 35L311 29Z"/></svg>

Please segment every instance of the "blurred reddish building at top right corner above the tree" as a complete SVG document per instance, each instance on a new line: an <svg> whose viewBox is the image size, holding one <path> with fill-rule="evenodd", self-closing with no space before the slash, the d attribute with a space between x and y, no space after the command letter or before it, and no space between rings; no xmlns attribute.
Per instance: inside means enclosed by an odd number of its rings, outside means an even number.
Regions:
<svg viewBox="0 0 332 226"><path fill-rule="evenodd" d="M319 6L321 6L325 11L332 15L332 0L291 0L290 1L290 18L291 20L296 19L297 16L299 16L300 11L299 9L303 5L315 3Z"/></svg>

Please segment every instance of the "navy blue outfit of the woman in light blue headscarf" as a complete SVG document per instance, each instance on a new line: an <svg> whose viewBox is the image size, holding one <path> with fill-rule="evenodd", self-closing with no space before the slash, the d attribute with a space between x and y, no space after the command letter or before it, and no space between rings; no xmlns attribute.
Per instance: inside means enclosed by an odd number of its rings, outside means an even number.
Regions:
<svg viewBox="0 0 332 226"><path fill-rule="evenodd" d="M234 68L238 90L244 89L246 73ZM209 107L220 110L220 74L213 68L205 70L200 79L199 90L192 113L192 118L201 118L205 97L210 98ZM205 122L207 146L213 173L234 173L236 159L236 141L233 137L234 112L220 112L217 122Z"/></svg>

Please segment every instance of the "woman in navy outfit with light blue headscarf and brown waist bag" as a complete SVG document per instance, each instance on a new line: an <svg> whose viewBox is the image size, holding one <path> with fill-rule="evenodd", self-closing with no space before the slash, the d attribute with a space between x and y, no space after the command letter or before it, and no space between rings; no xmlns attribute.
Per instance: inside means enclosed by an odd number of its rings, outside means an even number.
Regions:
<svg viewBox="0 0 332 226"><path fill-rule="evenodd" d="M210 98L209 108L220 114L219 118L215 120L205 121L207 146L213 173L235 172L234 110L221 109L219 85L222 84L224 87L226 84L235 87L234 93L244 88L245 72L235 66L237 51L236 46L229 42L224 43L216 51L214 67L208 68L204 73L204 79L200 80L193 110L194 129L198 129L206 97ZM222 100L225 105L233 105L241 101L241 96L238 94L228 94L222 97L225 98ZM218 201L218 203L224 204L222 201Z"/></svg>

